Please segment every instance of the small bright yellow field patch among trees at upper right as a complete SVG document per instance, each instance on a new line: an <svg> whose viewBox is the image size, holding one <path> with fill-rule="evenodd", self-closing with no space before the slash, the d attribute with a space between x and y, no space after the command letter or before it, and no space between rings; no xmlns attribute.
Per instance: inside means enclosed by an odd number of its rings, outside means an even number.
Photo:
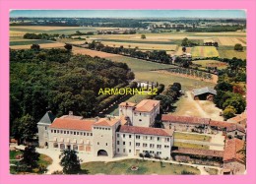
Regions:
<svg viewBox="0 0 256 184"><path fill-rule="evenodd" d="M215 46L195 46L191 50L192 57L218 57L219 52Z"/></svg>

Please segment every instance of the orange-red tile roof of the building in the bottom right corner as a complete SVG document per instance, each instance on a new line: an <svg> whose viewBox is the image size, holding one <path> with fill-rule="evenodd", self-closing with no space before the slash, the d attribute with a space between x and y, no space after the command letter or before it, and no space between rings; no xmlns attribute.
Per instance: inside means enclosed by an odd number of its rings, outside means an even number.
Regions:
<svg viewBox="0 0 256 184"><path fill-rule="evenodd" d="M224 161L238 160L240 162L244 162L242 160L243 155L238 153L243 148L244 141L239 139L231 139L226 140L224 147Z"/></svg>

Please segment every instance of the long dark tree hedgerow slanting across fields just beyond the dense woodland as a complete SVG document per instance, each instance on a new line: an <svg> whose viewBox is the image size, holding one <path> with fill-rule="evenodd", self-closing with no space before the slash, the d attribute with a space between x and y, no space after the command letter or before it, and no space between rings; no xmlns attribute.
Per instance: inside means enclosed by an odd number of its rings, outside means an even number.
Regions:
<svg viewBox="0 0 256 184"><path fill-rule="evenodd" d="M120 54L120 55L135 57L138 59L144 59L144 60L164 63L164 64L170 64L172 61L172 58L166 53L165 50L154 50L154 51L143 52L138 50L138 47L136 48L124 48L123 46L111 47L108 45L104 45L100 42L96 42L95 40L89 43L88 48L92 50L113 53L113 54Z"/></svg>

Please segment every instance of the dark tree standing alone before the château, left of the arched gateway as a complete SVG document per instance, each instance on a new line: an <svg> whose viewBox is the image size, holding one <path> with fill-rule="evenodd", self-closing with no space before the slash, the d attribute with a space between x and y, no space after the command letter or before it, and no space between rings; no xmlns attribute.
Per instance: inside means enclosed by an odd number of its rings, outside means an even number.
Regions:
<svg viewBox="0 0 256 184"><path fill-rule="evenodd" d="M81 170L80 160L77 156L77 152L67 149L61 151L60 165L63 166L63 172L65 174L76 174Z"/></svg>

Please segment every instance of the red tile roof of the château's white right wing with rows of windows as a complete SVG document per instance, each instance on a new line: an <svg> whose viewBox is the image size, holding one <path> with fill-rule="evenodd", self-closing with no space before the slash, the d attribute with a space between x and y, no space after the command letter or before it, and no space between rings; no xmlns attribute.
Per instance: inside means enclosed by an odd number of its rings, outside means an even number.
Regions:
<svg viewBox="0 0 256 184"><path fill-rule="evenodd" d="M144 135L155 135L155 136L167 136L173 135L173 130L151 128L151 127L135 127L135 126L120 126L119 132L132 133L132 134L144 134Z"/></svg>

